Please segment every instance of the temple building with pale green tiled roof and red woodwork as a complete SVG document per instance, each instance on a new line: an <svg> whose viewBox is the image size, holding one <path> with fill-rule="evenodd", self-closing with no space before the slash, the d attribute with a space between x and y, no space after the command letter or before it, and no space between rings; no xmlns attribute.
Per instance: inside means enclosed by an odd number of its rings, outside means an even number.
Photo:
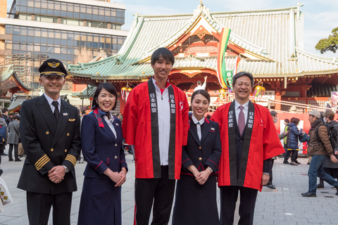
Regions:
<svg viewBox="0 0 338 225"><path fill-rule="evenodd" d="M223 28L230 28L224 61L227 70L251 72L276 101L319 105L325 90L337 90L338 60L304 51L304 14L301 6L261 11L210 12L201 4L180 15L136 14L131 30L115 56L68 65L73 84L97 86L112 82L120 91L154 75L151 54L170 49L175 64L170 83L192 94L197 81L207 77L206 89L218 96L218 52ZM318 90L321 89L321 90ZM123 97L123 96L121 96ZM325 98L320 98L325 97ZM119 98L119 108L124 108ZM289 110L292 105L273 105ZM299 113L304 113L303 109Z"/></svg>

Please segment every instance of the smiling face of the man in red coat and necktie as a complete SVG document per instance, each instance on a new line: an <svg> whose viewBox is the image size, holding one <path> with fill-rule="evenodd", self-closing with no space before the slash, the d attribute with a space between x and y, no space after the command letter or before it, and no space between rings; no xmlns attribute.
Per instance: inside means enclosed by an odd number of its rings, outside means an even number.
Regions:
<svg viewBox="0 0 338 225"><path fill-rule="evenodd" d="M251 79L247 76L238 77L233 89L236 100L246 103L251 94Z"/></svg>

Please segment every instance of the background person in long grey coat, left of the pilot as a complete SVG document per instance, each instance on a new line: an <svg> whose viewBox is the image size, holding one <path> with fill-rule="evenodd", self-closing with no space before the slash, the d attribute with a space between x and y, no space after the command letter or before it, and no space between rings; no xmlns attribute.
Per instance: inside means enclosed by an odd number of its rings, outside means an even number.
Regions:
<svg viewBox="0 0 338 225"><path fill-rule="evenodd" d="M18 146L20 139L20 117L15 115L13 117L13 121L8 124L8 161L13 161L13 147L14 147L14 158L15 162L20 162L21 160L18 158Z"/></svg>

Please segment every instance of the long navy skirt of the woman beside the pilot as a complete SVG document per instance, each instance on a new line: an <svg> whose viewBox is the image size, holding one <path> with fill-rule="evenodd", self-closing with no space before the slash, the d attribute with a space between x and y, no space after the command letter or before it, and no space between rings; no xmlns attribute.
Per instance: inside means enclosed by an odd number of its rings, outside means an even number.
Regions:
<svg viewBox="0 0 338 225"><path fill-rule="evenodd" d="M79 225L121 225L121 187L111 179L84 177Z"/></svg>

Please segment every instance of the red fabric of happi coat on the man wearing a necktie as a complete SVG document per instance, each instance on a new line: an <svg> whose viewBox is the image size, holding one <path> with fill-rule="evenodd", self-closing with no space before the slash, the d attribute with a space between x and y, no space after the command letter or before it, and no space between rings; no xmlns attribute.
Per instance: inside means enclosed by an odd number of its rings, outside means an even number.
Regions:
<svg viewBox="0 0 338 225"><path fill-rule="evenodd" d="M228 114L230 104L217 108L211 120L220 124L220 140L222 142L222 155L220 158L220 172L218 186L237 186L230 182L230 148L228 139ZM273 158L284 153L284 148L277 135L275 124L267 108L255 104L253 128L249 145L249 155L246 161L244 187L262 190L261 179L263 175L263 160ZM235 140L234 140L235 141Z"/></svg>

